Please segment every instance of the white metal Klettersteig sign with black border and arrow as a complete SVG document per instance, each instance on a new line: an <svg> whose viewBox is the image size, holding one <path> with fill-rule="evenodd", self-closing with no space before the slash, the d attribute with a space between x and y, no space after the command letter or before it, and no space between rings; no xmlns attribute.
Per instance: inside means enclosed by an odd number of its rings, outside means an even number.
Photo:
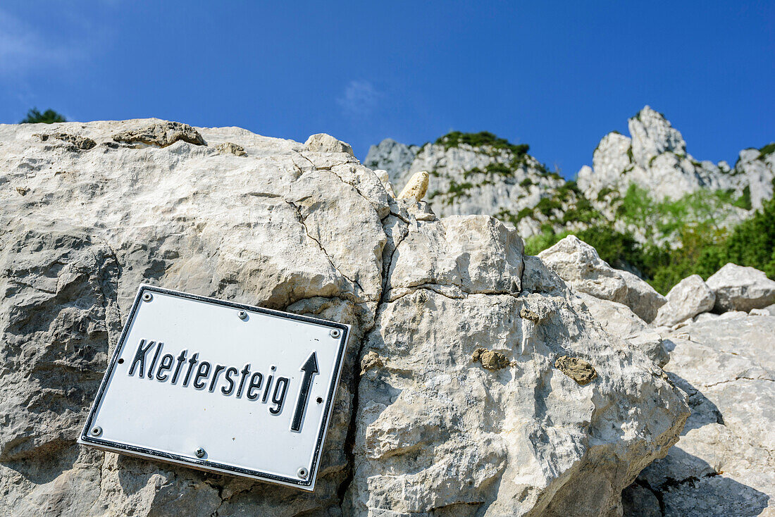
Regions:
<svg viewBox="0 0 775 517"><path fill-rule="evenodd" d="M78 442L312 491L349 332L140 286Z"/></svg>

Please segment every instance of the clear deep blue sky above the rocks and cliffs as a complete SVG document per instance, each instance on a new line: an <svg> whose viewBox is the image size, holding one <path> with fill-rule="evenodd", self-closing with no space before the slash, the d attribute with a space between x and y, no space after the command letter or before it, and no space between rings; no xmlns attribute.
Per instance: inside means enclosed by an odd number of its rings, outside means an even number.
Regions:
<svg viewBox="0 0 775 517"><path fill-rule="evenodd" d="M688 151L775 140L775 2L2 2L0 122L156 116L363 159L487 130L573 177L643 105Z"/></svg>

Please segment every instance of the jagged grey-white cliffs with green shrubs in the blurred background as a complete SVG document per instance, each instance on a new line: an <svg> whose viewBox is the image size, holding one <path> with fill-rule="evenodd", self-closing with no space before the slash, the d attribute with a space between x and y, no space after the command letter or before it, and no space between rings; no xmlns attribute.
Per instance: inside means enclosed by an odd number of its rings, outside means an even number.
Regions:
<svg viewBox="0 0 775 517"><path fill-rule="evenodd" d="M633 213L628 195L673 204L694 196L700 201L694 205L713 211L720 226L734 226L773 196L775 143L740 151L734 167L699 161L687 153L680 132L649 106L629 119L629 133L604 136L593 166L582 167L577 181L547 171L528 146L490 133L449 133L423 146L387 139L371 146L364 163L387 171L398 187L416 171L429 171L435 212L494 215L525 238L609 224L639 242L673 241L661 228L661 215ZM690 206L681 217L700 216L691 202L684 205Z"/></svg>

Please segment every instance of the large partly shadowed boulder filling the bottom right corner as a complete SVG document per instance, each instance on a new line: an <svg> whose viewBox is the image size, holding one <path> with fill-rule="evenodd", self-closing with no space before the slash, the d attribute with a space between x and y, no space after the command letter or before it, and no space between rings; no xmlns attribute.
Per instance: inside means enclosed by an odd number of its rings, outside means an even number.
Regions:
<svg viewBox="0 0 775 517"><path fill-rule="evenodd" d="M663 338L692 414L625 491L625 516L775 515L775 317L694 322Z"/></svg>

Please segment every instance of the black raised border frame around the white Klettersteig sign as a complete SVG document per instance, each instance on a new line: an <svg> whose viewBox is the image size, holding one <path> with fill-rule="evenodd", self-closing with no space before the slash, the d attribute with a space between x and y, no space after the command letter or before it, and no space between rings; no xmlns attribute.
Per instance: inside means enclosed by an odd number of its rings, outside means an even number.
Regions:
<svg viewBox="0 0 775 517"><path fill-rule="evenodd" d="M189 300L195 300L197 302L205 302L214 305L222 305L224 307L235 308L246 312L257 312L263 315L275 316L283 319L291 319L298 322L314 323L315 325L325 326L329 329L339 329L342 331L342 336L339 337L339 350L336 355L336 364L334 365L335 374L332 376L331 384L329 385L329 395L325 402L325 408L323 408L323 419L320 429L318 431L318 438L315 442L315 452L312 456L312 466L305 479L298 479L294 477L278 476L277 474L270 474L263 472L262 470L246 469L243 467L234 467L227 464L219 464L214 461L202 460L196 457L186 457L176 453L165 453L160 450L148 449L146 447L127 445L126 443L114 442L109 439L102 439L98 436L91 436L88 430L91 429L91 423L94 421L97 408L102 404L102 398L105 395L105 390L108 386L108 381L112 378L115 370L115 364L119 360L119 355L126 345L126 336L129 333L129 327L135 320L137 315L137 308L143 302L143 293L149 291L151 293L160 293L162 295L177 296L178 298L186 298ZM81 430L81 434L78 436L77 443L82 445L94 446L101 450L106 450L115 453L124 453L130 456L143 457L152 460L162 460L171 462L174 464L183 465L184 467L191 467L197 470L208 470L218 474L230 474L236 476L250 477L258 481L268 481L270 483L284 484L293 488L300 488L305 491L315 490L315 481L317 481L318 470L320 467L320 457L322 455L323 443L325 443L325 435L328 431L329 422L331 420L332 405L336 396L336 388L339 386L339 380L342 376L342 367L344 364L344 354L347 350L347 340L350 337L350 325L346 323L330 322L325 319L312 318L311 316L303 316L298 314L292 314L291 312L277 311L270 308L257 307L255 305L246 305L242 303L229 302L226 300L219 300L218 298L211 298L208 296L191 295L183 291L174 291L172 289L160 288L155 285L140 284L140 288L137 290L135 301L132 304L132 310L124 324L124 328L119 336L119 341L115 345L112 357L108 362L108 367L105 370L105 375L102 377L97 395L95 395L94 402L91 404L88 417L84 428Z"/></svg>

